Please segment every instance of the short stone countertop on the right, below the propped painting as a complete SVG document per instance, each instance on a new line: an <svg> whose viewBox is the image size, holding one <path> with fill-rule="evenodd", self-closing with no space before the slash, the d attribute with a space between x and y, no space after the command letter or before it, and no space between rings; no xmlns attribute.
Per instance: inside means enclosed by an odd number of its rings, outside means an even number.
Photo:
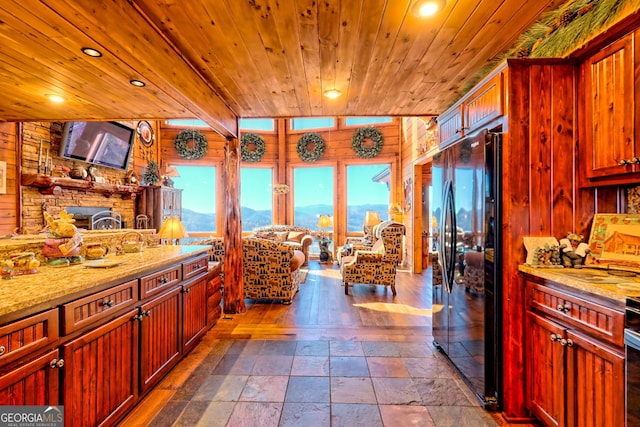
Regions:
<svg viewBox="0 0 640 427"><path fill-rule="evenodd" d="M640 275L620 277L608 270L595 268L544 268L522 264L521 272L547 279L582 292L599 295L617 303L627 296L640 296ZM612 271L615 274L615 271Z"/></svg>

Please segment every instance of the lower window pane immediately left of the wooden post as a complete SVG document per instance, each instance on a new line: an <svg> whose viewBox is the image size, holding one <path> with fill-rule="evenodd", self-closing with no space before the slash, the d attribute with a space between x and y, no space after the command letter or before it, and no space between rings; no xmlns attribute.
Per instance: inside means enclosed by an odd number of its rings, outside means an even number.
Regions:
<svg viewBox="0 0 640 427"><path fill-rule="evenodd" d="M189 233L216 232L216 168L176 166L180 176L174 187L182 188L182 222Z"/></svg>

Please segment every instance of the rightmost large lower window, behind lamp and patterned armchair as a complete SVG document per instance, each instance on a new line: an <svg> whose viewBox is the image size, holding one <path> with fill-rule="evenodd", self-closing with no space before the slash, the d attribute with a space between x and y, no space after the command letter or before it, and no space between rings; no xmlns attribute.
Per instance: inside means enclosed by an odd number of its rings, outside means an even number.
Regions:
<svg viewBox="0 0 640 427"><path fill-rule="evenodd" d="M347 166L347 233L361 232L367 211L380 214L384 220L389 211L389 185L386 180L375 178L386 176L389 164Z"/></svg>

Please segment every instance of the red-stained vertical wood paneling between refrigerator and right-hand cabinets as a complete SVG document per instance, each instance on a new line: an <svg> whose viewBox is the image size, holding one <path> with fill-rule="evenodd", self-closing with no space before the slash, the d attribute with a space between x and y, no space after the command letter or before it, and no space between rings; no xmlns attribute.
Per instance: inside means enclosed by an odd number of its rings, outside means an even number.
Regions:
<svg viewBox="0 0 640 427"><path fill-rule="evenodd" d="M576 229L575 67L509 61L503 126L504 413L526 415L523 236L562 237Z"/></svg>

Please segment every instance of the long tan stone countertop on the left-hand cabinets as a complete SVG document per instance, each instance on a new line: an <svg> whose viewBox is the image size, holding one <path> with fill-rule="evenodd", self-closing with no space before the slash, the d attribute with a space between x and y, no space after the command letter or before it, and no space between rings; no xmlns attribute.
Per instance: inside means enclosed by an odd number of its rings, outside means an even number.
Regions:
<svg viewBox="0 0 640 427"><path fill-rule="evenodd" d="M0 325L3 317L32 307L41 307L51 303L51 308L64 298L72 298L87 293L100 285L106 285L119 279L131 278L142 272L162 269L198 253L206 253L209 246L165 245L157 248L144 248L139 253L124 255L109 254L106 262L122 264L109 268L89 268L82 264L66 267L40 266L35 274L15 276L0 280ZM13 316L12 316L13 317Z"/></svg>

